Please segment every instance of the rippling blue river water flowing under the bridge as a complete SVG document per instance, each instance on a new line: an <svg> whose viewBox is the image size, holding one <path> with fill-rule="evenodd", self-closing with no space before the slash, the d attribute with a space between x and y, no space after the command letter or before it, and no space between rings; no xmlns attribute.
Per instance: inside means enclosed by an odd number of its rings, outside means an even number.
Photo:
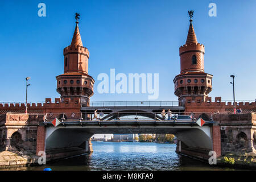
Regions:
<svg viewBox="0 0 256 182"><path fill-rule="evenodd" d="M234 170L177 155L176 144L92 142L93 153L15 170Z"/></svg>

